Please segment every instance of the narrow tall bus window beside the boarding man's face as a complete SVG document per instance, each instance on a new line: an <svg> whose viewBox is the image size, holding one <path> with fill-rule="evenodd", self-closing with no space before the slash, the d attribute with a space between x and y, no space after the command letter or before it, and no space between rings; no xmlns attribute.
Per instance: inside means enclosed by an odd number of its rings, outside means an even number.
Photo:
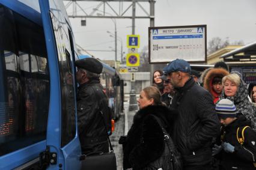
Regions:
<svg viewBox="0 0 256 170"><path fill-rule="evenodd" d="M76 135L75 89L73 85L72 56L68 30L51 14L56 48L58 49L59 75L61 80L61 147Z"/></svg>

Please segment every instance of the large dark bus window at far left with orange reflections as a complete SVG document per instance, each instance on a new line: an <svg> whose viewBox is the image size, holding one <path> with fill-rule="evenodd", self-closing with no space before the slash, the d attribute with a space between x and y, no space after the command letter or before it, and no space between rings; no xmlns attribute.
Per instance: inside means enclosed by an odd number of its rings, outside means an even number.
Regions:
<svg viewBox="0 0 256 170"><path fill-rule="evenodd" d="M0 156L46 139L46 73L43 28L0 5Z"/></svg>

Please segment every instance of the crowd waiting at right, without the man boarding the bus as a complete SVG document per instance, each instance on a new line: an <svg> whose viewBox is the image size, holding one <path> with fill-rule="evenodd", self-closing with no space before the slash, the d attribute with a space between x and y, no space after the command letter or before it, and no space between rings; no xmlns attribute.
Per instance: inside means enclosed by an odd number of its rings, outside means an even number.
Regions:
<svg viewBox="0 0 256 170"><path fill-rule="evenodd" d="M183 59L154 71L152 87L141 91L139 111L119 141L124 169L168 167L161 128L180 153L182 169L256 169L256 83L247 88L225 62L205 70L201 83L199 77Z"/></svg>

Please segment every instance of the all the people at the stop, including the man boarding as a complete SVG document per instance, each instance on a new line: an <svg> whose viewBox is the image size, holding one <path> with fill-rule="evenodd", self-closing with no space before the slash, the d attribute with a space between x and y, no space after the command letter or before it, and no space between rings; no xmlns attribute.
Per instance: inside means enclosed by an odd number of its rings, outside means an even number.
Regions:
<svg viewBox="0 0 256 170"><path fill-rule="evenodd" d="M109 151L103 65L76 61L78 128L83 154ZM247 88L224 62L201 74L183 59L153 73L123 145L123 169L256 169L256 83ZM99 100L100 99L100 100ZM102 114L100 114L102 113Z"/></svg>

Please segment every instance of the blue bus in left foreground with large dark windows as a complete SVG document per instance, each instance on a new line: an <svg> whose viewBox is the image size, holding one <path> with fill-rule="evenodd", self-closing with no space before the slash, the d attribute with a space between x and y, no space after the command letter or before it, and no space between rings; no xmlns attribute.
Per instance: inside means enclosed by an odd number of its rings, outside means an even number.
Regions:
<svg viewBox="0 0 256 170"><path fill-rule="evenodd" d="M62 0L0 0L0 169L81 169Z"/></svg>

